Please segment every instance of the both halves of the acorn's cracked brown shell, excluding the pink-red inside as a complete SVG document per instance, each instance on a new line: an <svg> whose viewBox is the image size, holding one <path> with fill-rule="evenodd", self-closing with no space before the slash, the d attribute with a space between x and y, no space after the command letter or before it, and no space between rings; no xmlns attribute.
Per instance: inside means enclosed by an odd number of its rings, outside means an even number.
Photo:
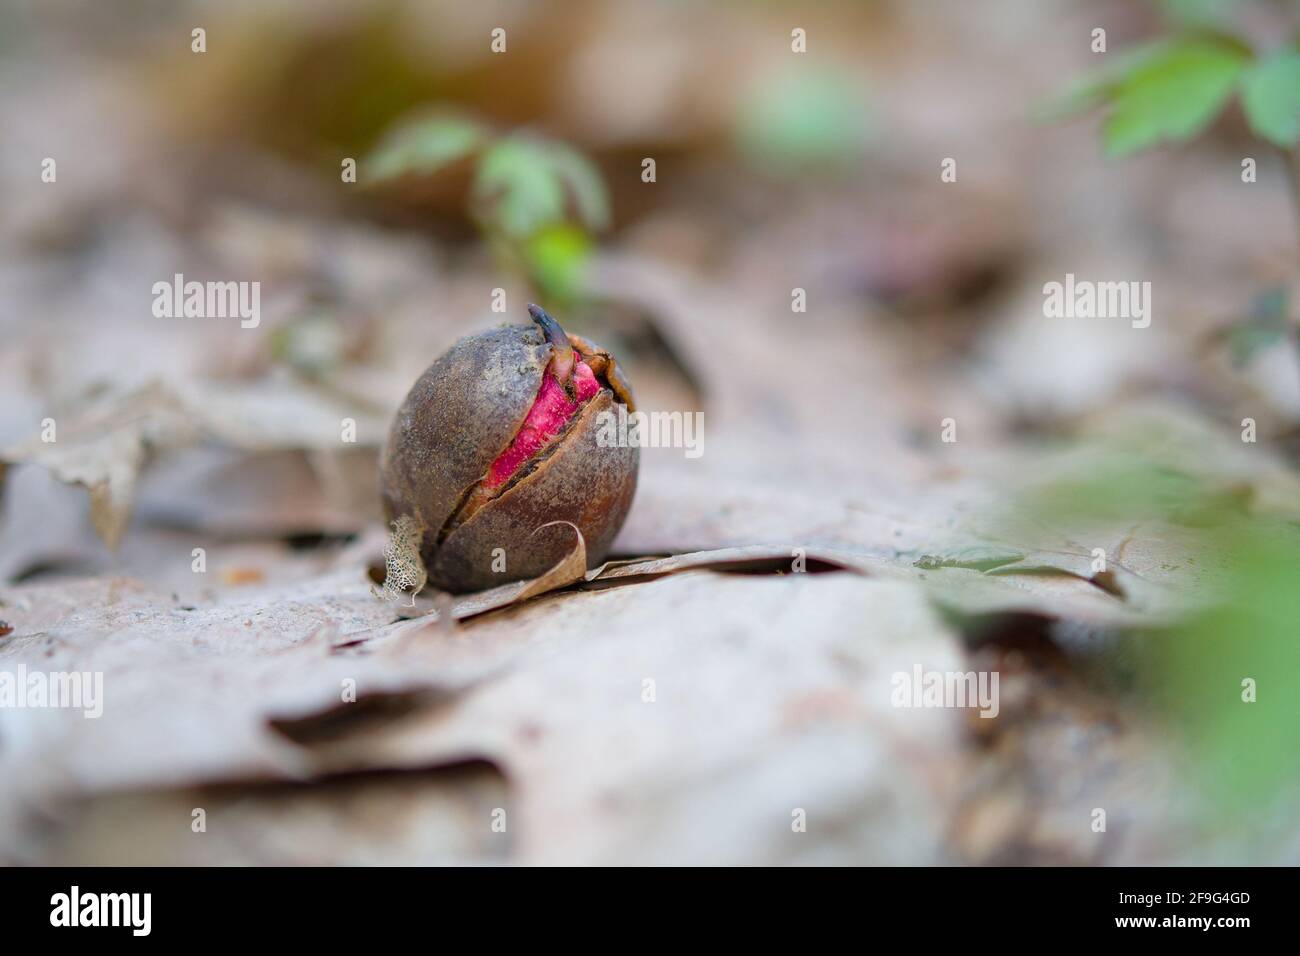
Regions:
<svg viewBox="0 0 1300 956"><path fill-rule="evenodd" d="M464 593L542 574L575 540L564 525L538 531L550 522L576 524L588 564L595 566L623 527L640 454L597 442L598 416L618 408L610 388L588 402L540 460L525 466L528 473L463 524L448 527L523 425L551 354L530 325L469 336L420 376L398 410L381 458L384 510L389 522L411 515L424 529L420 555L436 588ZM630 403L621 377L615 388ZM497 548L504 549L503 574L493 571Z"/></svg>

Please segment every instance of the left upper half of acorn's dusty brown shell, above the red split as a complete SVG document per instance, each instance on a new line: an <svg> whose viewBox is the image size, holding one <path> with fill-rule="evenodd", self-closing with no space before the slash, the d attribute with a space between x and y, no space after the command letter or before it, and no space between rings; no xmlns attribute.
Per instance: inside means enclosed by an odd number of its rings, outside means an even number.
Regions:
<svg viewBox="0 0 1300 956"><path fill-rule="evenodd" d="M411 386L380 464L389 522L411 515L436 542L468 488L488 472L524 424L551 346L530 325L468 336Z"/></svg>

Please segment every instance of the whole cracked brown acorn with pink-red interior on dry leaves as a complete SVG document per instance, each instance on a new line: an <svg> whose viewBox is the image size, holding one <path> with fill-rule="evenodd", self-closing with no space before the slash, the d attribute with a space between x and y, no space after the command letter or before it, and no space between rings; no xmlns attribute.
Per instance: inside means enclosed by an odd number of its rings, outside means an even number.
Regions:
<svg viewBox="0 0 1300 956"><path fill-rule="evenodd" d="M456 342L407 393L381 458L384 510L413 529L429 581L464 593L536 578L573 548L608 551L640 454L598 441L634 411L614 358L538 306L533 325ZM610 433L610 429L606 429Z"/></svg>

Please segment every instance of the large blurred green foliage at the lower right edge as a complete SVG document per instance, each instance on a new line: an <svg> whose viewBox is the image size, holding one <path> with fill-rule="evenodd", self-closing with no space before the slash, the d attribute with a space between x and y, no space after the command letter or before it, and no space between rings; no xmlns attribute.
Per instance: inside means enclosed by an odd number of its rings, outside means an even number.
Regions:
<svg viewBox="0 0 1300 956"><path fill-rule="evenodd" d="M1167 626L1119 636L1106 669L1162 715L1210 829L1294 800L1300 782L1300 499L1288 483L1260 501L1225 467L1240 460L1231 441L1112 423L1045 450L994 522L1022 545L1048 527L1122 541L1108 561L1144 540L1176 542L1164 559L1187 600Z"/></svg>

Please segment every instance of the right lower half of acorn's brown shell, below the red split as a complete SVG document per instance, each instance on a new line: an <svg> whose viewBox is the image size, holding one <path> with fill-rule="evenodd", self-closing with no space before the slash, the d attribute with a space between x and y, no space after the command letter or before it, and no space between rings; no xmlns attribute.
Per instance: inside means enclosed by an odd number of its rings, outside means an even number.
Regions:
<svg viewBox="0 0 1300 956"><path fill-rule="evenodd" d="M606 555L623 527L637 488L640 450L601 447L601 414L616 412L602 389L560 436L554 451L532 473L490 501L452 531L426 561L434 587L455 593L481 591L520 578L536 578L573 548L572 522L586 542L588 567ZM536 533L534 533L536 532ZM493 551L503 549L506 572L493 571Z"/></svg>

